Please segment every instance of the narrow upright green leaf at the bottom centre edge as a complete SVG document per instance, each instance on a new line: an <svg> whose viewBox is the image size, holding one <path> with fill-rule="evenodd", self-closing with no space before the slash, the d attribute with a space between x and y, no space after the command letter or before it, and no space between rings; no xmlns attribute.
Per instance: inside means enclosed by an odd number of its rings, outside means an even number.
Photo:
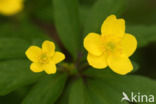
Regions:
<svg viewBox="0 0 156 104"><path fill-rule="evenodd" d="M69 92L69 104L86 104L84 96L84 83L82 79L76 79Z"/></svg>

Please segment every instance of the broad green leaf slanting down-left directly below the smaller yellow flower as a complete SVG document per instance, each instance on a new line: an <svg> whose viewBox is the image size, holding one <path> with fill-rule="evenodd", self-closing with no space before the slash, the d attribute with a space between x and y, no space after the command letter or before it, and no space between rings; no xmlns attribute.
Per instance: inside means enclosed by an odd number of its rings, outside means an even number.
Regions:
<svg viewBox="0 0 156 104"><path fill-rule="evenodd" d="M22 104L54 104L63 91L66 78L66 74L44 77L32 88Z"/></svg>

